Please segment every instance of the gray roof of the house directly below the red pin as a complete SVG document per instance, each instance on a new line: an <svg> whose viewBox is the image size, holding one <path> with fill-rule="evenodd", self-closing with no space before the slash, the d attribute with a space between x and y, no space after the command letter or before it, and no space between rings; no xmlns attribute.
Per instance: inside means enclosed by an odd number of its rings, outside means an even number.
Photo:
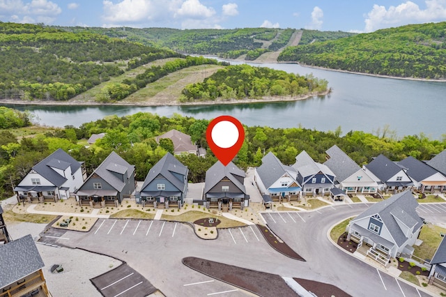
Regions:
<svg viewBox="0 0 446 297"><path fill-rule="evenodd" d="M209 190L217 185L217 183L219 183L224 177L227 177L229 178L229 181L236 185L236 187L246 195L245 185L240 183L235 176L242 176L245 178L245 172L242 169L239 169L233 162L229 162L228 165L224 166L222 162L217 161L206 172L204 193L206 194L209 192Z"/></svg>

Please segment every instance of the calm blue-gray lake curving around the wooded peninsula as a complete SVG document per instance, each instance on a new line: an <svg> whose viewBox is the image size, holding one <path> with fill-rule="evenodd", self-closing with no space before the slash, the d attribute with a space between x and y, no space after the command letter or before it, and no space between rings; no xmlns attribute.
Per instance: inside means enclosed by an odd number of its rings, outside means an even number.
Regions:
<svg viewBox="0 0 446 297"><path fill-rule="evenodd" d="M334 131L376 132L390 128L399 137L424 133L432 139L446 134L446 82L422 82L341 73L292 63L249 63L289 73L327 79L332 93L328 96L294 102L257 102L236 105L194 106L38 106L13 105L29 110L42 125L79 126L87 121L116 114L152 112L160 116L174 113L197 119L213 119L228 114L245 125L266 125L272 128L299 127ZM11 105L8 105L11 106Z"/></svg>

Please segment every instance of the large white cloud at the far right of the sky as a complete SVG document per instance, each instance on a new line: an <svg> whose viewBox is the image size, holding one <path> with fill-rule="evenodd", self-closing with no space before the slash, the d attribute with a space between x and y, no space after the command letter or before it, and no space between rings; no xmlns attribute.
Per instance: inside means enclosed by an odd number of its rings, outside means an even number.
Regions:
<svg viewBox="0 0 446 297"><path fill-rule="evenodd" d="M374 5L365 19L366 32L376 31L389 26L443 21L446 18L446 0L426 0L426 9L416 3L406 1L399 6Z"/></svg>

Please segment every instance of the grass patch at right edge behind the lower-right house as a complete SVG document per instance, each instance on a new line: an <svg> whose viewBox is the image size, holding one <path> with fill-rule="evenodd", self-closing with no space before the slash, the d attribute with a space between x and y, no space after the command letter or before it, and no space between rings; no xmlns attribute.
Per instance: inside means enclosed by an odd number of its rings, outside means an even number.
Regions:
<svg viewBox="0 0 446 297"><path fill-rule="evenodd" d="M414 245L415 251L413 254L421 259L432 259L435 254L438 245L440 245L443 237L440 233L446 234L446 229L438 227L434 224L425 224L420 233L420 240L423 243L420 246Z"/></svg>

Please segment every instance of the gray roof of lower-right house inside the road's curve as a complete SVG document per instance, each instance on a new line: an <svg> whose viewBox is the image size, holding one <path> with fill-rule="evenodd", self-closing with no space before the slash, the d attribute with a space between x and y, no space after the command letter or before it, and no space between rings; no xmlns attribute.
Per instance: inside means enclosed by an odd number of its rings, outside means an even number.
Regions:
<svg viewBox="0 0 446 297"><path fill-rule="evenodd" d="M417 214L417 211L415 211L417 207L418 202L412 193L410 191L404 191L370 206L366 211L353 219L352 223L378 214L392 235L392 238L394 238L394 242L401 247L408 238L399 227L397 220L401 221L408 228L413 227L414 231L420 229L423 220Z"/></svg>

